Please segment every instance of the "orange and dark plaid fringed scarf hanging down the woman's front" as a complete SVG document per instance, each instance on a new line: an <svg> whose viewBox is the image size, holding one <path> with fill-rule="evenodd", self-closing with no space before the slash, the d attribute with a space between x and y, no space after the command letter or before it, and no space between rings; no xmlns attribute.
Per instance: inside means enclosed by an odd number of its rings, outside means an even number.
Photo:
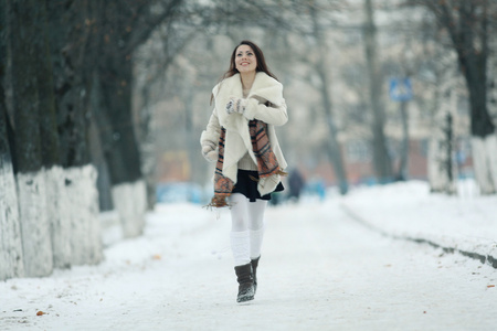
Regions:
<svg viewBox="0 0 497 331"><path fill-rule="evenodd" d="M267 124L257 119L250 120L248 132L251 136L252 150L257 160L258 178L267 178L274 174L286 175L286 172L279 169L278 160L271 149L271 142L267 136ZM231 195L234 188L233 181L223 175L225 137L226 129L221 128L219 138L219 158L214 173L214 196L212 197L211 203L208 204L208 206L211 207L229 206L226 197Z"/></svg>

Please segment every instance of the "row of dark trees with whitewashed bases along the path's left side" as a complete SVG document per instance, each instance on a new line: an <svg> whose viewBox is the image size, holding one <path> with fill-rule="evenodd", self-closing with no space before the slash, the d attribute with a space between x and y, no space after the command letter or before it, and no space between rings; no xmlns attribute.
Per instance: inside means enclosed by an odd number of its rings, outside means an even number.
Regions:
<svg viewBox="0 0 497 331"><path fill-rule="evenodd" d="M133 53L181 2L0 1L0 279L102 260L99 152L125 236L141 233Z"/></svg>

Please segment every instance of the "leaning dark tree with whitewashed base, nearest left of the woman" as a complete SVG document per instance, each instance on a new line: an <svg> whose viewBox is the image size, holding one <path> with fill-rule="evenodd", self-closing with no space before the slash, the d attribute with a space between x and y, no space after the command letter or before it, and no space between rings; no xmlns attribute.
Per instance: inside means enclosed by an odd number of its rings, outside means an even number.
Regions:
<svg viewBox="0 0 497 331"><path fill-rule="evenodd" d="M101 99L94 109L110 173L114 206L126 237L141 234L146 184L131 110L133 55L165 20L172 19L181 0L113 1L102 3L99 61L96 68Z"/></svg>

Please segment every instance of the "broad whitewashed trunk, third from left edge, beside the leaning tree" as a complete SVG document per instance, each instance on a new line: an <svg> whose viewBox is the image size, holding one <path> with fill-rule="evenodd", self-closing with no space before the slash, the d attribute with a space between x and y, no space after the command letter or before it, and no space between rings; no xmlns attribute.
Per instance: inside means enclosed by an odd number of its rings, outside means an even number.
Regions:
<svg viewBox="0 0 497 331"><path fill-rule="evenodd" d="M50 36L57 107L56 131L63 168L51 169L52 191L59 196L59 218L52 218L56 267L97 264L103 259L93 166L89 166L87 122L91 74L96 58L89 56L97 4L47 1ZM93 7L92 7L93 6ZM93 189L92 189L93 186Z"/></svg>

